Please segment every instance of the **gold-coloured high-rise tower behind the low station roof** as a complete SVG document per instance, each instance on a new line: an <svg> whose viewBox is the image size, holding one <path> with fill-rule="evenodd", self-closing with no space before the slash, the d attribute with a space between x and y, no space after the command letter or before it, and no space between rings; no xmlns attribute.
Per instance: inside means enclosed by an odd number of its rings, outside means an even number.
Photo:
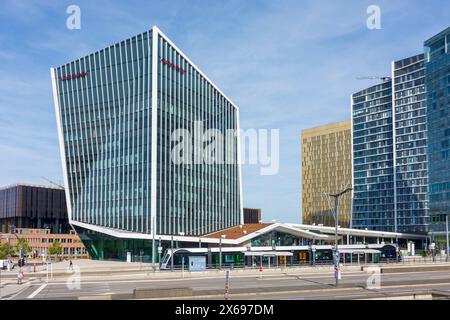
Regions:
<svg viewBox="0 0 450 320"><path fill-rule="evenodd" d="M333 205L324 193L351 185L351 122L302 130L302 223L334 226ZM339 225L350 226L351 194L340 199Z"/></svg>

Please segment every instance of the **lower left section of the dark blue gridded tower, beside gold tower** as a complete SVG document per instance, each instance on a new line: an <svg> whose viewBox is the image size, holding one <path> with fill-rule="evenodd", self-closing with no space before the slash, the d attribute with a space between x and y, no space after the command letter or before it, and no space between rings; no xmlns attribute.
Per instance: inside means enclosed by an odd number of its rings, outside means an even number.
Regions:
<svg viewBox="0 0 450 320"><path fill-rule="evenodd" d="M392 82L351 97L352 227L395 230Z"/></svg>

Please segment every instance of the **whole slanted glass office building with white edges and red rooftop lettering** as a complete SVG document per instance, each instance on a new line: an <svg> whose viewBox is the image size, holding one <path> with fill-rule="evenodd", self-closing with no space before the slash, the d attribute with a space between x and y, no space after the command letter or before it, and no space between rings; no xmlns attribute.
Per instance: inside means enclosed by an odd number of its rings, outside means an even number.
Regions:
<svg viewBox="0 0 450 320"><path fill-rule="evenodd" d="M91 256L243 222L239 109L157 27L51 77L69 220ZM175 164L177 129L190 133L185 151L211 142L205 130L234 130L215 150L232 161Z"/></svg>

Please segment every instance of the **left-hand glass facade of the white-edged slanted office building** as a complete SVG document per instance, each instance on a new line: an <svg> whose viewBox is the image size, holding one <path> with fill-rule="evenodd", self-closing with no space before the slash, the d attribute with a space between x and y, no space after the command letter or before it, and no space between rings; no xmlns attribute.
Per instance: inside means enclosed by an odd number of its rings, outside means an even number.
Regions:
<svg viewBox="0 0 450 320"><path fill-rule="evenodd" d="M150 231L151 44L146 32L54 71L73 221Z"/></svg>

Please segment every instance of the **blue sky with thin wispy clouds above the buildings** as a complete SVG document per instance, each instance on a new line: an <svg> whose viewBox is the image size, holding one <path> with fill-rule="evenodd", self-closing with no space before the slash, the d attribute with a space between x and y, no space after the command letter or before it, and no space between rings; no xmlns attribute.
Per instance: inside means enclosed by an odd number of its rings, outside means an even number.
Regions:
<svg viewBox="0 0 450 320"><path fill-rule="evenodd" d="M81 8L81 30L66 8ZM366 9L381 8L369 30ZM350 118L350 94L450 25L448 1L20 1L0 10L0 185L62 182L49 68L157 25L241 110L280 129L280 171L243 167L244 205L299 222L300 134Z"/></svg>

